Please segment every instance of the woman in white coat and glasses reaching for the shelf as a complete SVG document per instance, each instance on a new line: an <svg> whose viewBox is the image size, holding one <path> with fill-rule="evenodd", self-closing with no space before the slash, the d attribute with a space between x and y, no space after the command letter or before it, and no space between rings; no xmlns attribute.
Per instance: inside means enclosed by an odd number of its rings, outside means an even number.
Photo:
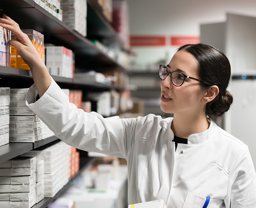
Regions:
<svg viewBox="0 0 256 208"><path fill-rule="evenodd" d="M174 118L103 118L69 103L17 23L5 15L0 22L16 35L10 43L31 68L35 84L27 105L65 143L126 158L129 204L163 199L168 208L256 206L248 147L211 119L233 102L226 90L230 64L222 52L186 45L160 66L161 109Z"/></svg>

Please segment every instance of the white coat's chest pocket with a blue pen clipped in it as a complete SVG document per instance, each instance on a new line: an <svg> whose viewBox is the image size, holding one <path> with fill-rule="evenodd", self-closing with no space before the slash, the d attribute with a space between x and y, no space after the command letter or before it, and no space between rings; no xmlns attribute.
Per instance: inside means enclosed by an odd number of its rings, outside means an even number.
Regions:
<svg viewBox="0 0 256 208"><path fill-rule="evenodd" d="M202 208L205 201L206 198L188 192L182 208ZM214 199L210 199L207 208L215 208L215 206L216 201Z"/></svg>

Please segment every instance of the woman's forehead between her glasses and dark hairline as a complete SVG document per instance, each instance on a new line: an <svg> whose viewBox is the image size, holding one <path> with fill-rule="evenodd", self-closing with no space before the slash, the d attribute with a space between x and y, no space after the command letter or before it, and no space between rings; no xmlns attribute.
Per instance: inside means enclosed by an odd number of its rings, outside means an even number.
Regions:
<svg viewBox="0 0 256 208"><path fill-rule="evenodd" d="M176 52L169 65L167 65L171 71L181 71L189 76L198 74L198 66L195 57L184 50Z"/></svg>

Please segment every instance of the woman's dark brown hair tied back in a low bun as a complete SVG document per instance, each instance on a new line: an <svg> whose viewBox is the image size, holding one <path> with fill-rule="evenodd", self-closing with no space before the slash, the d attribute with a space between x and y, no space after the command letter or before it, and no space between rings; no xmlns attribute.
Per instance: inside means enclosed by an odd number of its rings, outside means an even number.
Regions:
<svg viewBox="0 0 256 208"><path fill-rule="evenodd" d="M199 43L181 46L178 51L184 50L192 54L199 63L199 77L202 89L209 89L213 85L219 87L219 94L206 104L206 115L214 119L222 116L230 108L233 96L227 91L231 68L228 58L217 48Z"/></svg>

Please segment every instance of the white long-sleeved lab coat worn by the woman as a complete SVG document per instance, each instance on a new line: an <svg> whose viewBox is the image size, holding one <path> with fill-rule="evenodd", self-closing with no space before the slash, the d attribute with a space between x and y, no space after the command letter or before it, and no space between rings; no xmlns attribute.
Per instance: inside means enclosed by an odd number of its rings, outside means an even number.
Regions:
<svg viewBox="0 0 256 208"><path fill-rule="evenodd" d="M36 101L35 85L27 105L65 143L123 157L128 165L129 204L163 199L168 208L255 208L256 174L248 147L212 120L188 144L172 142L172 118L103 118L69 103L54 80Z"/></svg>

